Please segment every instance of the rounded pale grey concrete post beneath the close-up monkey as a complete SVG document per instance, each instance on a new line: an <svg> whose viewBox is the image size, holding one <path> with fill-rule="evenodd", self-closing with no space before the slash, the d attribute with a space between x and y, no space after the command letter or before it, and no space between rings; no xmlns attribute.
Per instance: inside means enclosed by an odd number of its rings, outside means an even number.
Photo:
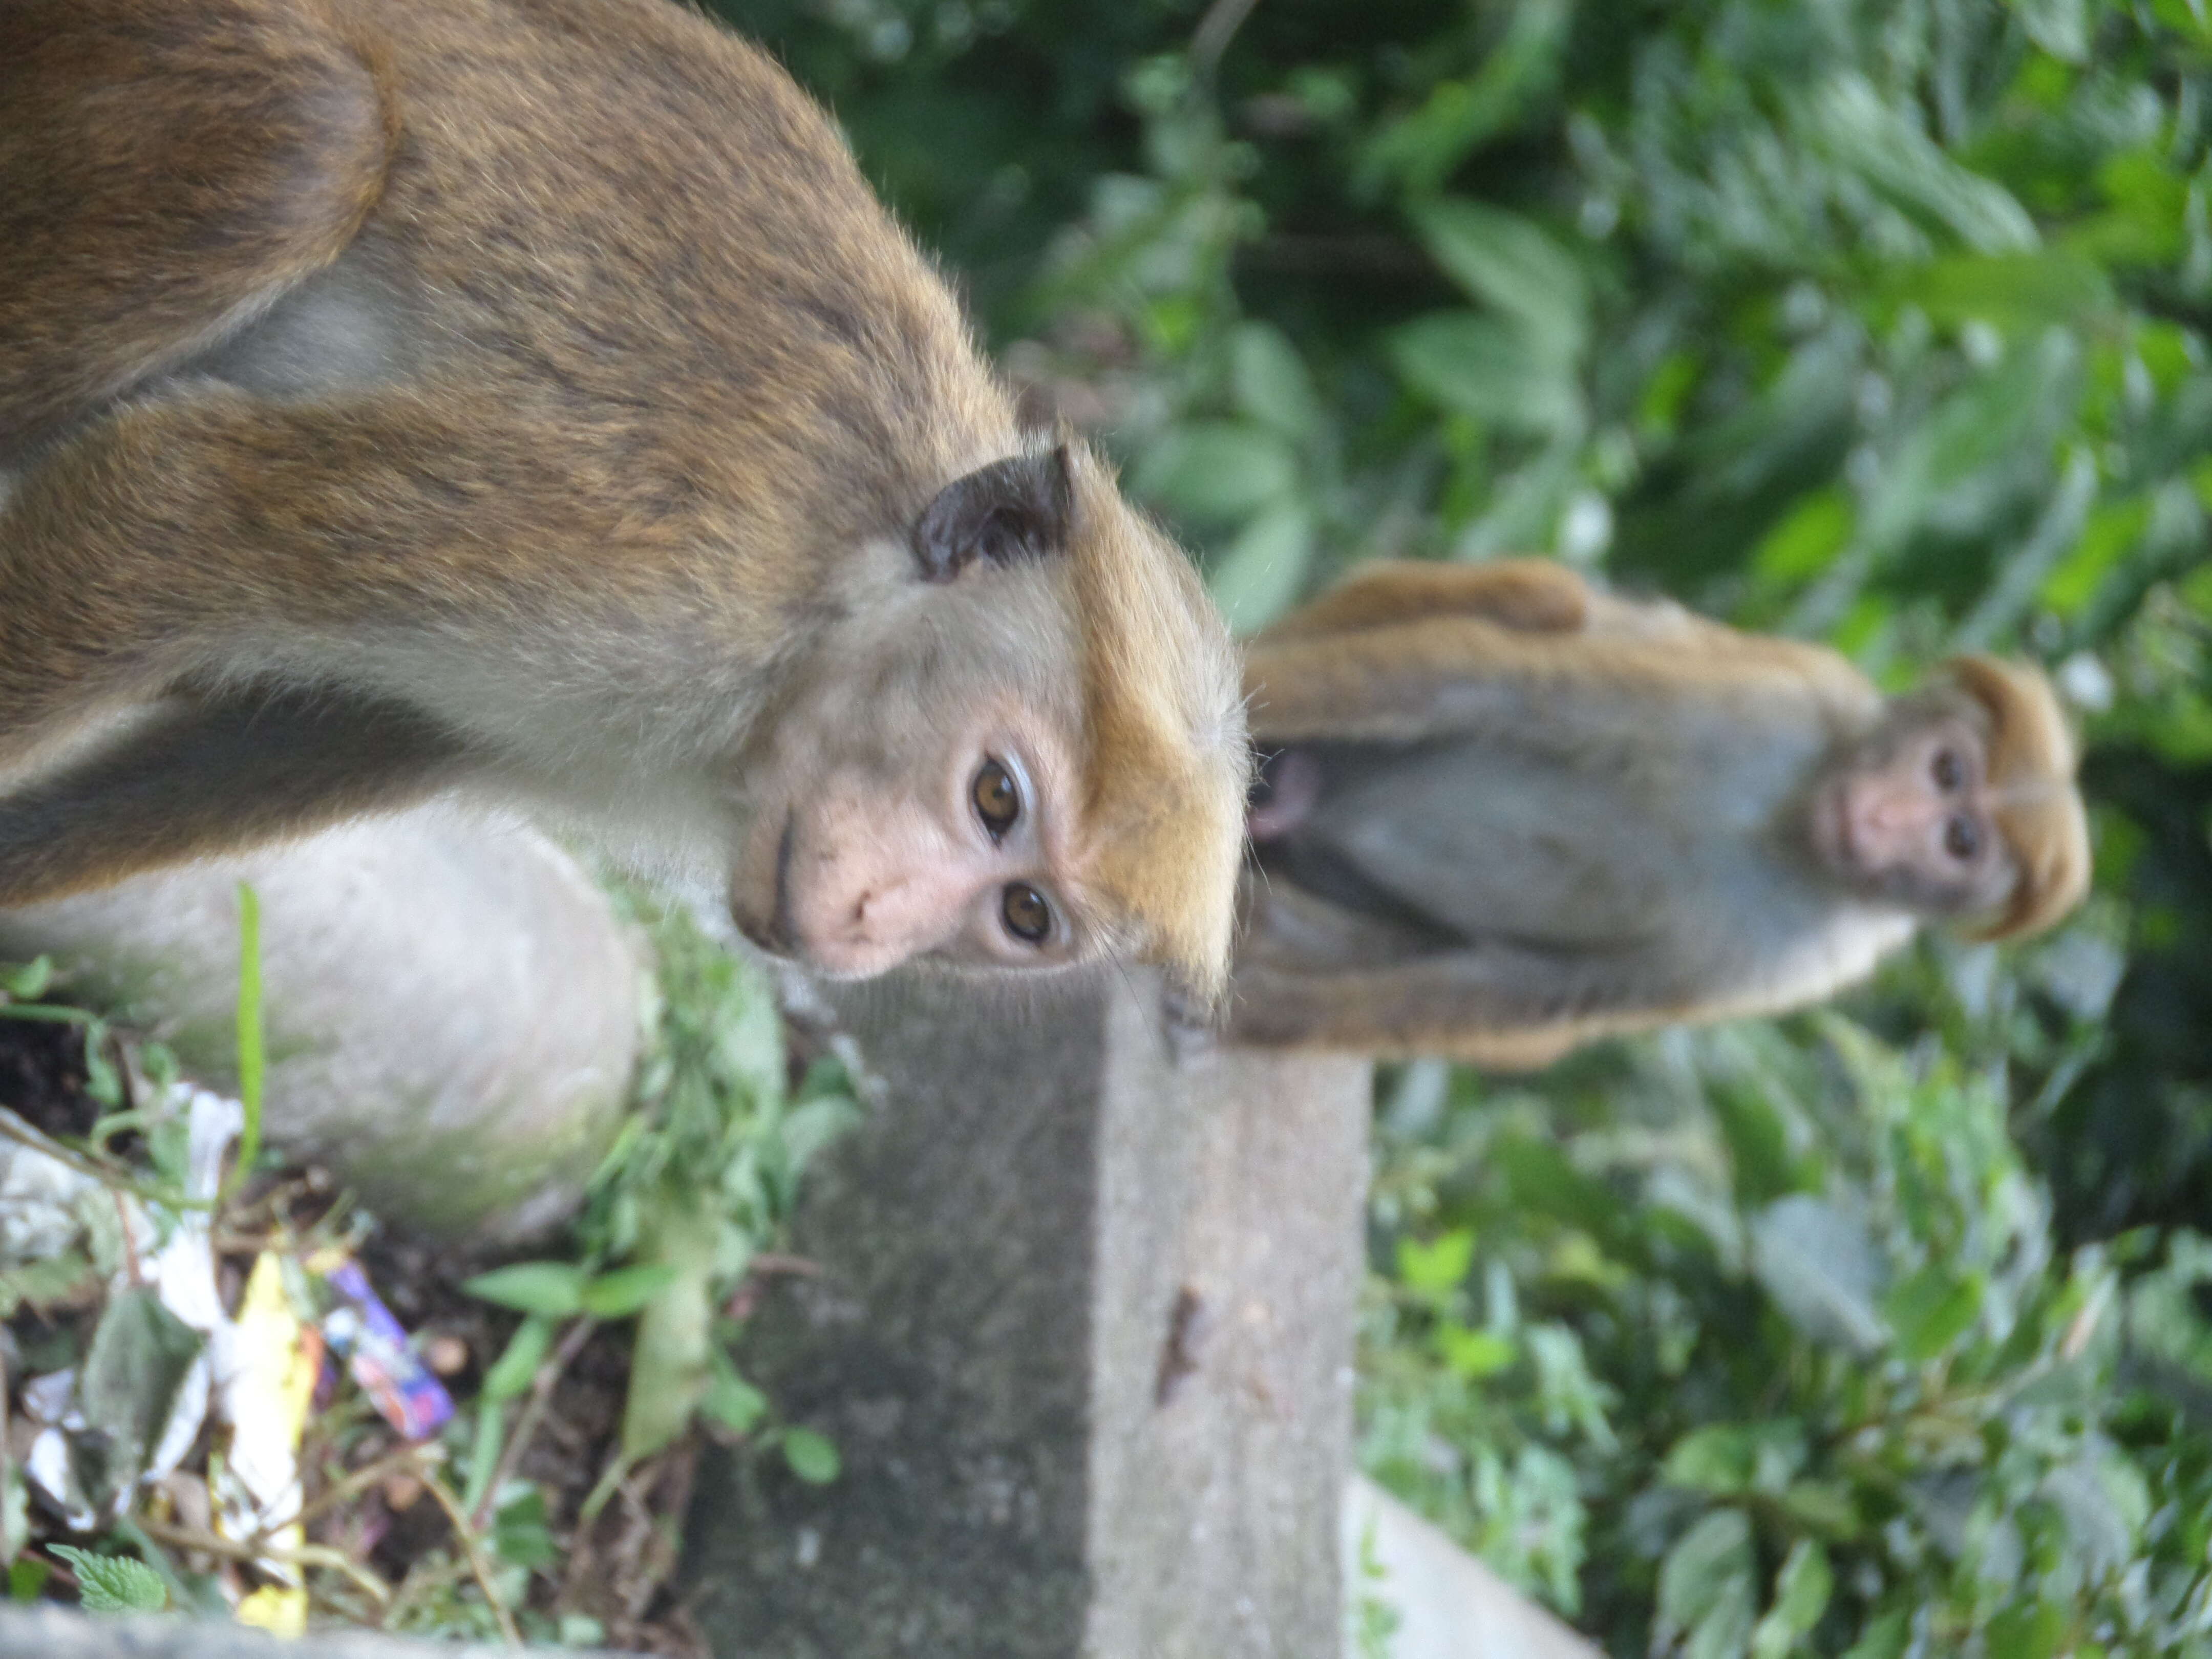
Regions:
<svg viewBox="0 0 2212 1659"><path fill-rule="evenodd" d="M613 1137L646 951L568 854L422 807L0 911L210 1086L234 1082L237 885L261 896L265 1135L383 1219L478 1241L560 1221Z"/></svg>

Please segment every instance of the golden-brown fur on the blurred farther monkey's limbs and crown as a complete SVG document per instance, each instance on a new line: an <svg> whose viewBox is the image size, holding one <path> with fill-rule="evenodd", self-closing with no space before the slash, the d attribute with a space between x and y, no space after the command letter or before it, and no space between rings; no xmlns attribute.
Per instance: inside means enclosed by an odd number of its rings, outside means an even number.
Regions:
<svg viewBox="0 0 2212 1659"><path fill-rule="evenodd" d="M2048 927L2079 902L2090 865L2073 785L2075 748L2057 699L2033 668L1991 657L1955 659L1944 675L1955 688L1949 695L1971 699L1986 721L1995 823L2017 867L2002 909L1971 927L1984 938ZM1785 732L1798 732L1787 741L1807 757L1836 752L1885 714L1876 688L1832 650L1743 635L1672 604L1621 599L1540 560L1363 566L1250 644L1245 690L1263 752L1285 743L1409 745L1469 732L1498 732L1511 745L1571 730L1579 734L1573 743L1595 745L1593 754L1621 757L1593 761L1599 770L1650 765L1652 721L1701 721L1710 737L1692 752L1725 768L1747 763L1741 757L1756 757ZM1719 796L1730 779L1690 779L1683 787ZM1559 834L1582 830L1562 823ZM1506 1071L1548 1064L1604 1035L1825 995L1909 931L1836 916L1820 922L1836 929L1832 956L1801 953L1772 980L1754 975L1717 989L1694 975L1668 982L1663 971L1615 984L1604 969L1608 951L1595 945L1588 960L1599 969L1586 978L1577 978L1573 958L1562 967L1513 940L1469 953L1409 947L1389 922L1261 872L1248 878L1248 909L1234 1037L1449 1055ZM1756 931L1763 920L1714 916L1703 927ZM1767 947L1752 947L1754 960L1759 949Z"/></svg>

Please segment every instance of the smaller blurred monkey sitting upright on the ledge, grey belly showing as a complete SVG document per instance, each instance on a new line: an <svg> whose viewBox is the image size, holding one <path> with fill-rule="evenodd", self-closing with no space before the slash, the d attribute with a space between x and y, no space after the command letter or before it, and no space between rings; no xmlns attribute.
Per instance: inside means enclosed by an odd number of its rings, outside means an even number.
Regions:
<svg viewBox="0 0 2212 1659"><path fill-rule="evenodd" d="M1989 657L1885 701L1557 564L1374 564L1252 641L1245 688L1245 1042L1537 1066L1823 998L1927 918L2046 927L2088 885L2057 701Z"/></svg>

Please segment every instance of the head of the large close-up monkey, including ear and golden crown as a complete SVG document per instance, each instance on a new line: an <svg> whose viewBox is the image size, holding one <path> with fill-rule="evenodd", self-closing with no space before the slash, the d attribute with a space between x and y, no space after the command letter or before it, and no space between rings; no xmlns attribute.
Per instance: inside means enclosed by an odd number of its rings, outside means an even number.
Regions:
<svg viewBox="0 0 2212 1659"><path fill-rule="evenodd" d="M739 929L836 978L1137 953L1217 998L1250 752L1175 544L1055 445L956 478L856 571L748 768Z"/></svg>

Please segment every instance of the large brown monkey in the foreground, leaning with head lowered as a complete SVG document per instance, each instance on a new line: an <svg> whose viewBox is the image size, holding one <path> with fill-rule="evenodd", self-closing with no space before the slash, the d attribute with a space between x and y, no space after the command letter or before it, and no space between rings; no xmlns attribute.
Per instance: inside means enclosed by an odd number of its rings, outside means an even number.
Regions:
<svg viewBox="0 0 2212 1659"><path fill-rule="evenodd" d="M473 787L832 973L1234 914L1234 655L659 0L0 4L0 902Z"/></svg>

